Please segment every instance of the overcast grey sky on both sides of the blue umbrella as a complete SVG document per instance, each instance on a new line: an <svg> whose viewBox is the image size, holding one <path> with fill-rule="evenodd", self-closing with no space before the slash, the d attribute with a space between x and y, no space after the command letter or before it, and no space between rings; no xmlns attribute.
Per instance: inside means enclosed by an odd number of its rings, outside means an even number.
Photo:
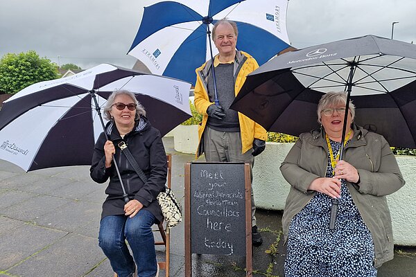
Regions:
<svg viewBox="0 0 416 277"><path fill-rule="evenodd" d="M256 1L256 0L248 0ZM148 0L0 0L0 56L35 50L83 69L126 55ZM295 48L361 35L416 43L416 0L290 0L286 26Z"/></svg>

